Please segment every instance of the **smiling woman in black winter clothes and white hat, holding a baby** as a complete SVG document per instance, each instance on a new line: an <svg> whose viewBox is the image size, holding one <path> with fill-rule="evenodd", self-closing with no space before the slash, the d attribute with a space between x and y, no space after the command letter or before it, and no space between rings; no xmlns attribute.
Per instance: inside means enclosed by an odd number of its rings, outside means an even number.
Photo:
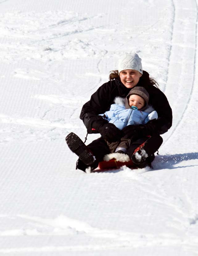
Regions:
<svg viewBox="0 0 198 256"><path fill-rule="evenodd" d="M167 132L172 125L172 110L166 96L156 85L155 80L142 70L141 59L136 53L124 54L118 62L118 70L111 72L110 81L103 84L83 105L80 119L83 120L88 133L100 133L102 137L94 140L88 146L80 138L70 133L66 137L68 147L79 156L76 169L85 171L88 166L95 169L104 155L110 150L106 143L116 142L121 137L130 138L127 151L130 159L138 167L151 166L154 153L159 149L163 140L159 134ZM112 123L108 123L99 114L109 110L115 97L126 97L135 86L144 87L149 93L149 105L158 113L158 119L151 120L144 125L129 125L122 131Z"/></svg>

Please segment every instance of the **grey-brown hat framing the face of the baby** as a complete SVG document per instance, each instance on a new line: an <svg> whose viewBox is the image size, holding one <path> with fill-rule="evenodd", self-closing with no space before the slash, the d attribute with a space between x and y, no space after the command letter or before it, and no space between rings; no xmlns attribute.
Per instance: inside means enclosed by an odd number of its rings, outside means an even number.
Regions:
<svg viewBox="0 0 198 256"><path fill-rule="evenodd" d="M129 105L129 97L131 94L136 94L136 95L139 95L140 97L142 97L146 104L143 106L143 108L141 108L140 110L144 111L147 106L148 106L148 101L149 101L149 94L148 92L146 91L146 89L144 87L140 87L140 86L136 86L134 87L133 89L130 90L130 92L128 93L128 95L126 96L126 99L125 99L125 108L126 109L130 109L130 105Z"/></svg>

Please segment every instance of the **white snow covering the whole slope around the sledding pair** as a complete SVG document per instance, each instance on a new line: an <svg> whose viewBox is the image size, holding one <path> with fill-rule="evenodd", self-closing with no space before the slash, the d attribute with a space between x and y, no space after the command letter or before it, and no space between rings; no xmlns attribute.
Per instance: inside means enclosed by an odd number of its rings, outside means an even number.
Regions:
<svg viewBox="0 0 198 256"><path fill-rule="evenodd" d="M0 0L0 255L198 255L197 22L197 0ZM75 170L65 137L130 51L173 110L154 169Z"/></svg>

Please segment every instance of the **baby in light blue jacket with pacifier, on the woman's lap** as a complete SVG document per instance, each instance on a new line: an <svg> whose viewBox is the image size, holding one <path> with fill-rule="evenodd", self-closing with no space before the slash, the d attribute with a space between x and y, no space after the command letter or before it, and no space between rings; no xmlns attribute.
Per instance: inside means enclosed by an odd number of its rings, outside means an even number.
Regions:
<svg viewBox="0 0 198 256"><path fill-rule="evenodd" d="M144 87L134 87L126 98L115 98L115 104L110 106L109 111L100 114L109 123L113 123L122 130L128 125L145 124L152 119L157 119L158 114L152 106L148 105L149 94ZM110 151L113 153L126 153L130 139L124 136L117 142L108 142Z"/></svg>

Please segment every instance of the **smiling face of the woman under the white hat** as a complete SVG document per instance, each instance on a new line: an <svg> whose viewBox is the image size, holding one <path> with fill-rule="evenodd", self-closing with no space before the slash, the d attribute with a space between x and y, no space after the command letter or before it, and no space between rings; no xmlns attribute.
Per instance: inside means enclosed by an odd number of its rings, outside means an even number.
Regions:
<svg viewBox="0 0 198 256"><path fill-rule="evenodd" d="M142 74L134 69L124 69L120 72L120 80L127 88L134 88Z"/></svg>

